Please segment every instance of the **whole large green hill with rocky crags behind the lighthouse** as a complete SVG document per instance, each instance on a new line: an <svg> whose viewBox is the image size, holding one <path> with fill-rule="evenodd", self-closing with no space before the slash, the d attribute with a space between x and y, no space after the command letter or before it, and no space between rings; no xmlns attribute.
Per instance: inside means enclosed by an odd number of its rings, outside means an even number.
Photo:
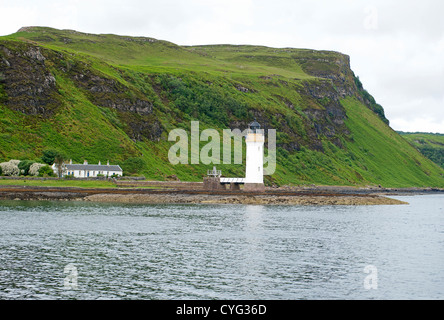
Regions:
<svg viewBox="0 0 444 320"><path fill-rule="evenodd" d="M213 164L170 164L168 133L195 120L243 130L254 118L277 130L268 185L444 186L444 170L389 127L344 54L43 27L0 37L0 161L57 149L199 181ZM242 164L217 167L244 175Z"/></svg>

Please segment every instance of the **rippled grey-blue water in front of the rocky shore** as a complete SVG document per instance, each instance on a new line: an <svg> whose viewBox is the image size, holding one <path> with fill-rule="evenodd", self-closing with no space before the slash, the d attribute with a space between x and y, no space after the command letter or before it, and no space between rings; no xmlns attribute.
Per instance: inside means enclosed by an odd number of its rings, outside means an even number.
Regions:
<svg viewBox="0 0 444 320"><path fill-rule="evenodd" d="M0 298L444 299L444 195L396 198L410 204L0 201Z"/></svg>

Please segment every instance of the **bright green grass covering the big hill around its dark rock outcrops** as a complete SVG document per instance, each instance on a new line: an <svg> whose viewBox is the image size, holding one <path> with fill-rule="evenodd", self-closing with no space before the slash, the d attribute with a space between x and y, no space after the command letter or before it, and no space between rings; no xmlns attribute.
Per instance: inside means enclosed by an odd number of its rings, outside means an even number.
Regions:
<svg viewBox="0 0 444 320"><path fill-rule="evenodd" d="M70 40L64 39L68 37ZM107 77L135 88L154 101L166 132L177 126L188 128L195 116L200 117L201 130L214 123L201 113L193 115L180 109L172 100L171 92L155 92L148 76L169 74L181 78L193 88L200 86L207 90L204 95L213 86L211 92L216 92L218 99L226 103L234 100L248 106L248 110L264 109L270 114L287 115L287 119L293 121L292 128L303 139L308 139L302 125L306 101L294 88L303 80L316 81L316 78L304 73L291 57L315 54L311 50L229 45L180 47L149 38L87 35L46 28L1 39L30 41L73 54L73 62L86 61ZM64 101L54 119L33 120L0 104L0 158L36 159L47 147L65 150L76 162L86 158L90 163L107 159L120 163L128 157L141 157L146 164L141 172L148 178L165 179L175 174L182 180L195 181L201 180L212 167L172 166L168 162L168 149L173 143L166 141L166 132L160 141L132 141L123 132L115 111L93 105L63 74L56 69L52 72ZM282 85L281 80L286 85ZM256 93L239 92L233 83L254 89ZM292 101L294 110L289 110L276 96ZM279 147L280 139L285 136L278 136L278 166L276 173L267 177L268 183L444 186L444 171L425 159L373 112L351 98L342 104L347 112L346 124L352 132L352 140L341 137L346 149L325 141L323 153L305 147L289 153ZM218 127L226 127L223 119ZM218 165L218 168L227 176L242 176L244 170L243 165Z"/></svg>

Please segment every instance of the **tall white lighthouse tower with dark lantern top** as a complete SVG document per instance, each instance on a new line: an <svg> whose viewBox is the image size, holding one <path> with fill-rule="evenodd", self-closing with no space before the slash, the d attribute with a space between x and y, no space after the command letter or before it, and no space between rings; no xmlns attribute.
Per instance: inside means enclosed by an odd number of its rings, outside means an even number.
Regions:
<svg viewBox="0 0 444 320"><path fill-rule="evenodd" d="M248 127L245 143L247 160L244 190L264 191L264 133L256 120Z"/></svg>

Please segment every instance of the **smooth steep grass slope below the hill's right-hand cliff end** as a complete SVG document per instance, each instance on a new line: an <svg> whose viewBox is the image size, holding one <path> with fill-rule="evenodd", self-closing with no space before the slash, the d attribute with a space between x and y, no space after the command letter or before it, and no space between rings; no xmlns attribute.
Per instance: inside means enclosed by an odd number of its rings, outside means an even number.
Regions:
<svg viewBox="0 0 444 320"><path fill-rule="evenodd" d="M359 103L345 99L347 125L353 143L347 143L356 171L364 179L384 181L394 187L439 184L443 171L424 158L395 131ZM382 165L381 165L382 164Z"/></svg>

